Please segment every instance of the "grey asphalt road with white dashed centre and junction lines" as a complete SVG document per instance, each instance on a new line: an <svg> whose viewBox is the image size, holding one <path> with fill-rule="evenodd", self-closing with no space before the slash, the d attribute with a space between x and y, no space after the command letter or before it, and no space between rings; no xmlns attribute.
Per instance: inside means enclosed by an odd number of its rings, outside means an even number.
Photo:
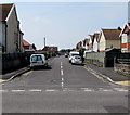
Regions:
<svg viewBox="0 0 130 115"><path fill-rule="evenodd" d="M128 113L128 88L92 75L67 58L2 85L3 113Z"/></svg>

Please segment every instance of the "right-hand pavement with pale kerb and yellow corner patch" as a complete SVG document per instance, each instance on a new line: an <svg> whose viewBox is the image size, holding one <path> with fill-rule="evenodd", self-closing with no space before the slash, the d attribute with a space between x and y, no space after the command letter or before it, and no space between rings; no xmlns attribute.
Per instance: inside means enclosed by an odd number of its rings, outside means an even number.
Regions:
<svg viewBox="0 0 130 115"><path fill-rule="evenodd" d="M96 74L98 76L103 77L113 84L130 86L130 78L114 72L114 67L104 68L88 63L84 66L89 72Z"/></svg>

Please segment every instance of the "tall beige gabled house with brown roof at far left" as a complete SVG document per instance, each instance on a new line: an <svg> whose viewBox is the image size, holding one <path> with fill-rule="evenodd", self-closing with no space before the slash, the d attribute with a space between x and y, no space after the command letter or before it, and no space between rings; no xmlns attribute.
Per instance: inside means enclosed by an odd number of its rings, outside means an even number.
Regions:
<svg viewBox="0 0 130 115"><path fill-rule="evenodd" d="M0 4L0 46L3 52L23 52L23 33L13 3Z"/></svg>

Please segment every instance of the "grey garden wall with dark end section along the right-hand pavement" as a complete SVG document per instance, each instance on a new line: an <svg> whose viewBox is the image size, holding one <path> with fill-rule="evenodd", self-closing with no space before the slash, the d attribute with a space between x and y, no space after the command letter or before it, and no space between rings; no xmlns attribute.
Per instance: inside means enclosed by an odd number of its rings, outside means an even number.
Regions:
<svg viewBox="0 0 130 115"><path fill-rule="evenodd" d="M114 67L115 61L120 58L130 59L130 53L121 53L116 49L105 52L91 52L86 54L84 62L103 67Z"/></svg>

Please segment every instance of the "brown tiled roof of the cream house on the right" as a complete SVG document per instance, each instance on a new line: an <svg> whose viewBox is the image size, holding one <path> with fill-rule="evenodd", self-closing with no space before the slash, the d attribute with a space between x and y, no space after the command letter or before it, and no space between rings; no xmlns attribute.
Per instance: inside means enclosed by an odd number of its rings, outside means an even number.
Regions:
<svg viewBox="0 0 130 115"><path fill-rule="evenodd" d="M106 40L119 40L121 30L119 29L102 29Z"/></svg>

